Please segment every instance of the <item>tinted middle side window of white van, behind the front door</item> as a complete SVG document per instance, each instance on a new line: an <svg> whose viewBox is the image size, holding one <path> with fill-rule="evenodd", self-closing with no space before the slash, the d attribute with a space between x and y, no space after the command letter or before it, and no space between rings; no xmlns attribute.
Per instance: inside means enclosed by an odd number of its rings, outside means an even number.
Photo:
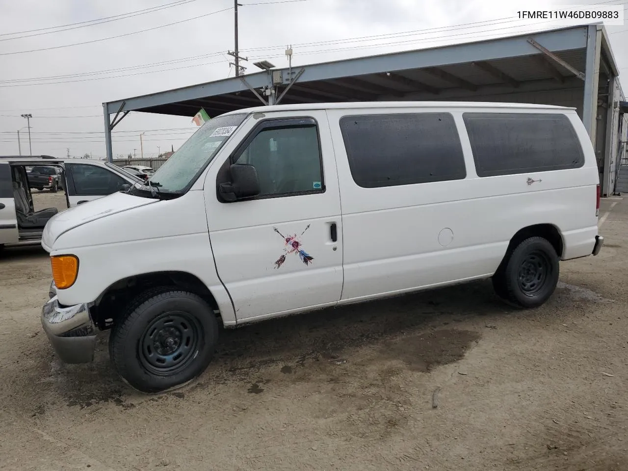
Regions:
<svg viewBox="0 0 628 471"><path fill-rule="evenodd" d="M340 131L351 174L360 187L459 180L467 175L451 114L345 116Z"/></svg>

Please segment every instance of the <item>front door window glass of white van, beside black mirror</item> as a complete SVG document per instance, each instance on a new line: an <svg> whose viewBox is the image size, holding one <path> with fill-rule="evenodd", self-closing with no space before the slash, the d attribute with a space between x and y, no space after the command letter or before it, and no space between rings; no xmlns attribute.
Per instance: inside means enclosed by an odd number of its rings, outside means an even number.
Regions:
<svg viewBox="0 0 628 471"><path fill-rule="evenodd" d="M232 163L256 168L259 197L320 192L324 188L316 124L274 127L266 124L249 139Z"/></svg>

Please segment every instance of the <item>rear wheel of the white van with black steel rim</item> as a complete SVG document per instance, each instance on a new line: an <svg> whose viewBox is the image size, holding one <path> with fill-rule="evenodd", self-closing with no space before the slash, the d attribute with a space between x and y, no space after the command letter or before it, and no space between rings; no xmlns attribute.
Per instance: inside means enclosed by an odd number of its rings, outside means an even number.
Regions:
<svg viewBox="0 0 628 471"><path fill-rule="evenodd" d="M530 237L504 257L493 276L495 293L521 308L535 308L548 300L558 283L556 250L543 237Z"/></svg>

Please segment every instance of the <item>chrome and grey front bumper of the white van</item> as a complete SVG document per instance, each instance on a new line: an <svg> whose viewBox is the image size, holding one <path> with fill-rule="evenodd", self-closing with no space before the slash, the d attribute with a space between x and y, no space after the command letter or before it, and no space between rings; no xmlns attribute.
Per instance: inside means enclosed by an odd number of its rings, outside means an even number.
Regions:
<svg viewBox="0 0 628 471"><path fill-rule="evenodd" d="M96 328L87 304L60 306L54 284L50 300L41 308L41 325L58 357L65 363L94 360Z"/></svg>

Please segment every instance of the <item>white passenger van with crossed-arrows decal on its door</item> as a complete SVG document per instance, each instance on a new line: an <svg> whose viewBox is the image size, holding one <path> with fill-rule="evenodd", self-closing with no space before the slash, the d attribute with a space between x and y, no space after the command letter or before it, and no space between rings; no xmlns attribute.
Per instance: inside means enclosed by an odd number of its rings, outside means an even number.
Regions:
<svg viewBox="0 0 628 471"><path fill-rule="evenodd" d="M533 308L597 254L598 169L574 109L266 106L203 124L151 177L55 215L43 327L66 362L111 328L147 393L196 377L219 323L492 278ZM131 254L133 256L131 256Z"/></svg>

